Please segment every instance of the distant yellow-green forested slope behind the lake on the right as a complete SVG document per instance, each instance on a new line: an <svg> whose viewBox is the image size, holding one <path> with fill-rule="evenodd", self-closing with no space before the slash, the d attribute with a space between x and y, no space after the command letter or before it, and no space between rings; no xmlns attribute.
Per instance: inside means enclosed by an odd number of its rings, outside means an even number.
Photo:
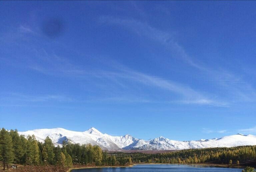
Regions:
<svg viewBox="0 0 256 172"><path fill-rule="evenodd" d="M205 149L187 149L169 153L145 154L145 153L113 153L117 160L131 157L134 163L171 163L171 164L255 164L256 146L238 146Z"/></svg>

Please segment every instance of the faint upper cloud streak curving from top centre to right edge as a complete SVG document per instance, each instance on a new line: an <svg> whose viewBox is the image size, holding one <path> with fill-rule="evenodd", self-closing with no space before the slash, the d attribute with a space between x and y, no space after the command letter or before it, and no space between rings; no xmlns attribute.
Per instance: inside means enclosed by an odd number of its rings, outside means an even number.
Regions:
<svg viewBox="0 0 256 172"><path fill-rule="evenodd" d="M202 75L212 78L213 83L219 85L220 89L225 88L226 91L223 96L229 96L226 98L232 99L229 100L229 103L242 101L254 102L256 100L256 90L251 86L251 84L243 81L241 77L234 75L229 71L223 69L210 69L202 63L195 62L195 60L186 53L185 49L174 41L173 34L161 31L151 27L147 23L142 23L133 19L120 19L110 16L102 16L100 17L100 22L128 28L139 36L144 36L161 43L172 54L181 58L190 66L202 71ZM229 95L227 95L227 93L229 93ZM208 100L202 100L201 103L203 102L207 103ZM187 103L190 103L190 101L187 101Z"/></svg>

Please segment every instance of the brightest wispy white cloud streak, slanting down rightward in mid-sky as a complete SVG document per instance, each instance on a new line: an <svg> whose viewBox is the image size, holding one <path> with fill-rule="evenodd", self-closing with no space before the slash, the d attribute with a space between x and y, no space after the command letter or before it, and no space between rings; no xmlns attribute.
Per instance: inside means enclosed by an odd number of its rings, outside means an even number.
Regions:
<svg viewBox="0 0 256 172"><path fill-rule="evenodd" d="M139 82L147 86L151 86L151 87L153 86L153 87L170 91L176 94L176 96L181 97L181 98L174 98L176 100L169 103L199 104L199 105L211 105L211 106L221 106L221 107L228 106L228 104L223 101L211 100L205 96L205 93L204 94L200 93L199 91L196 91L190 88L189 86L180 84L178 82L175 82L172 80L166 80L161 77L152 76L152 75L144 74L141 72L137 72L123 65L116 64L116 66L118 66L118 69L121 71L119 72L102 71L102 73L98 72L96 75L98 77L106 77L113 81L116 81L118 82L119 85L120 83L122 83L122 79L125 78L128 80ZM122 85L125 85L125 84L122 84Z"/></svg>

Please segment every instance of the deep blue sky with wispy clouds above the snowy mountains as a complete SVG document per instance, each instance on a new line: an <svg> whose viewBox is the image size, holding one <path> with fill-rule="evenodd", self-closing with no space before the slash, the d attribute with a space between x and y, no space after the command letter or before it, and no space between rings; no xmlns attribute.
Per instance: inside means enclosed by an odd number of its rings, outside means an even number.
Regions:
<svg viewBox="0 0 256 172"><path fill-rule="evenodd" d="M255 1L1 1L0 127L256 134Z"/></svg>

